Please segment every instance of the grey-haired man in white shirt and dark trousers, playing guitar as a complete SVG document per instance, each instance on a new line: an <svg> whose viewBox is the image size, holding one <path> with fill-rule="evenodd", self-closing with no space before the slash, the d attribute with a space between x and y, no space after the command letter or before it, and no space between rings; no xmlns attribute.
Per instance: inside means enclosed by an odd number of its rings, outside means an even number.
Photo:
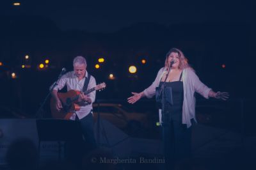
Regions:
<svg viewBox="0 0 256 170"><path fill-rule="evenodd" d="M96 148L96 142L93 132L92 103L95 101L96 81L95 78L92 75L89 75L86 71L86 59L82 56L74 58L73 66L74 71L65 73L52 90L52 98L54 101L52 102L52 116L54 117L54 115L56 115L53 114L54 111L56 113L68 112L68 116L66 115L65 119L79 121L84 139L87 144L90 144L90 148L93 149ZM87 95L84 94L84 83L86 82L86 79L88 84L87 89L94 89ZM78 92L75 92L75 95L77 95L76 105L79 106L79 109L67 111L67 108L65 108L65 101L63 101L61 95L58 94L58 90L62 89L64 86L67 86L68 91Z"/></svg>

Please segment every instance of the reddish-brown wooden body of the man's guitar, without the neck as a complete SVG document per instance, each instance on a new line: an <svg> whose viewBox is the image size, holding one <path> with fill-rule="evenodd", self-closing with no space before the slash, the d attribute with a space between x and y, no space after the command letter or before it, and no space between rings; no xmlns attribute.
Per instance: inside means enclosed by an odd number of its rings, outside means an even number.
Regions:
<svg viewBox="0 0 256 170"><path fill-rule="evenodd" d="M77 97L80 94L80 91L71 89L67 93L58 93L58 97L61 100L62 107L60 111L56 109L56 101L54 98L51 98L51 112L52 118L70 120L74 111L79 111L80 106L77 104L77 100L74 102L69 102L71 98Z"/></svg>

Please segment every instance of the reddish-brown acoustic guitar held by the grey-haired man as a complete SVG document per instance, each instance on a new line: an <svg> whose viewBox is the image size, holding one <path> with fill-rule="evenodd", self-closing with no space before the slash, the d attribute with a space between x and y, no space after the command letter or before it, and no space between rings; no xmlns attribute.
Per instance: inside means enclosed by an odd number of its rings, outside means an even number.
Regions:
<svg viewBox="0 0 256 170"><path fill-rule="evenodd" d="M98 84L94 88L86 90L84 92L84 95L88 95L89 93L92 93L95 90L101 91L104 88L106 88L106 84L105 82L102 82L101 84ZM56 100L54 98L51 98L52 118L69 120L70 117L73 115L73 113L75 111L79 111L80 109L80 105L78 102L80 93L81 91L76 91L74 89L71 89L67 93L57 93L63 107L60 111L56 109Z"/></svg>

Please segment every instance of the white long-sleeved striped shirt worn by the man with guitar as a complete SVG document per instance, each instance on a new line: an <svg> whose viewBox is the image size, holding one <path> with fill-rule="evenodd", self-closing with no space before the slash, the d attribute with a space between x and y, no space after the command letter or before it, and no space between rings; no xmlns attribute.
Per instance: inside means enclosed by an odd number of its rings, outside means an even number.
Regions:
<svg viewBox="0 0 256 170"><path fill-rule="evenodd" d="M88 78L87 71L85 73L85 77L86 77L86 79ZM74 71L67 72L60 78L60 80L57 83L57 86L55 86L54 89L58 91L58 90L62 89L64 86L67 86L68 91L70 89L74 89L76 91L82 91L83 87L84 87L85 77L79 81L79 79L76 76ZM95 88L95 86L96 86L95 78L91 75L90 82L88 84L87 89ZM86 102L85 102L84 105L80 105L80 110L74 112L74 114L71 116L70 120L74 120L76 118L76 115L79 118L79 120L81 120L82 118L87 116L92 111L92 104L95 101L95 96L96 96L96 91L89 93L87 95L87 97L89 97L92 100L92 103L86 104Z"/></svg>

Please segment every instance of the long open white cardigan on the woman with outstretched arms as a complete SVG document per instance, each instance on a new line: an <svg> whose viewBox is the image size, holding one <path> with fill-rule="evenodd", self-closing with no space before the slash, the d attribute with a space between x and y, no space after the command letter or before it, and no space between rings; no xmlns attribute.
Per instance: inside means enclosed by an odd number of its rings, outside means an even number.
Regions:
<svg viewBox="0 0 256 170"><path fill-rule="evenodd" d="M157 73L157 77L155 81L143 92L147 98L152 98L156 94L156 87L159 86L161 78L166 70L161 68ZM195 116L195 105L196 105L196 98L194 96L195 91L202 95L204 98L209 98L209 91L211 88L205 86L202 83L198 76L196 75L195 71L192 68L185 68L182 73L183 81L183 89L184 89L184 99L183 99L183 106L182 106L182 124L186 124L189 128L191 126L191 120L196 121ZM161 116L161 110L159 110L159 115Z"/></svg>

